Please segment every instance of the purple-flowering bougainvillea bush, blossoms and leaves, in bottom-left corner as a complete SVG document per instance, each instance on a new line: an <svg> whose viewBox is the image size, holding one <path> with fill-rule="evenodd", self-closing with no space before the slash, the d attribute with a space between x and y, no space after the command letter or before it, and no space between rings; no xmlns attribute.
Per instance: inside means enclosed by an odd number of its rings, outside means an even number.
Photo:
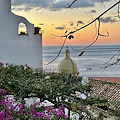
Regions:
<svg viewBox="0 0 120 120"><path fill-rule="evenodd" d="M65 120L65 108L59 106L58 110L52 106L39 107L40 103L36 102L26 107L21 103L16 103L13 98L6 96L5 89L0 89L0 120Z"/></svg>

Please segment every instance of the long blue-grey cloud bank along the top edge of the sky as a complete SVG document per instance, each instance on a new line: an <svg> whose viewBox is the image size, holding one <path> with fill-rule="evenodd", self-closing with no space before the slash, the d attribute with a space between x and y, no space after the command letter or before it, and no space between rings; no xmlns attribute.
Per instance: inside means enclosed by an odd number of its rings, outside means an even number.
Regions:
<svg viewBox="0 0 120 120"><path fill-rule="evenodd" d="M49 9L51 11L58 11L65 9L71 4L70 0L12 0L12 6L25 6L26 9L21 9L24 11L30 10L35 7ZM32 7L30 7L32 6ZM90 0L79 0L77 3L72 5L72 8L84 8L93 7L94 3ZM18 9L14 9L18 10Z"/></svg>

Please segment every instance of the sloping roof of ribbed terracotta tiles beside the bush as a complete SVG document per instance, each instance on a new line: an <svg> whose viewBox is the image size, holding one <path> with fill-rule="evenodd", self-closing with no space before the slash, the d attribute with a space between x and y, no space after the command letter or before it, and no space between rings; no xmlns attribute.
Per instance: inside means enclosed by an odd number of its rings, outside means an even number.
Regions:
<svg viewBox="0 0 120 120"><path fill-rule="evenodd" d="M101 78L103 77L92 77L90 79L90 83L92 85L91 95L107 98L109 102L108 107L110 109L116 109L116 106L120 105L120 83L115 83L115 79L111 79L111 77L105 77L104 79ZM109 82L106 82L108 80ZM112 80L114 81L112 82ZM118 80L120 80L120 78Z"/></svg>

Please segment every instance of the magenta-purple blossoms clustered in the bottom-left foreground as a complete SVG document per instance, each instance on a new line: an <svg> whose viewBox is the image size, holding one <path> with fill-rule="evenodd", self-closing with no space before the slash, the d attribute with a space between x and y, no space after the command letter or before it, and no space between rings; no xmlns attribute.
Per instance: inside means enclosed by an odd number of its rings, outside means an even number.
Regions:
<svg viewBox="0 0 120 120"><path fill-rule="evenodd" d="M3 94L6 94L5 89L0 89L0 92ZM53 106L45 106L45 111L38 112L35 105L40 105L40 102L36 102L35 104L32 104L28 113L27 109L24 108L23 104L16 103L14 98L9 98L9 96L5 96L5 99L1 101L1 105L4 107L4 110L0 111L0 120L13 120L14 116L11 116L13 114L17 114L19 117L21 115L30 117L31 120L34 120L34 118L39 119L47 119L51 120L51 116L59 117L59 118L65 118L67 119L67 115L65 115L64 111L65 108L62 106L59 106L59 109L54 109ZM5 117L5 119L4 119Z"/></svg>

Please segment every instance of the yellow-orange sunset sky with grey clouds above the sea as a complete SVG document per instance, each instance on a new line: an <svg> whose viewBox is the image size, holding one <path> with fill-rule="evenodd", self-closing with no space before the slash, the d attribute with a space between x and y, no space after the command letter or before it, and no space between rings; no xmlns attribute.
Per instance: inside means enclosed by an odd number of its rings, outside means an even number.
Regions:
<svg viewBox="0 0 120 120"><path fill-rule="evenodd" d="M73 0L12 0L12 12L25 17L29 22L40 27L43 33L43 45L62 45L65 33L74 31L95 19L118 0L78 0L71 8L67 8ZM102 18L100 34L109 37L99 37L96 45L120 44L118 6L114 7ZM68 40L69 45L89 45L95 40L98 22L76 32L74 39ZM20 25L22 31L24 26Z"/></svg>

